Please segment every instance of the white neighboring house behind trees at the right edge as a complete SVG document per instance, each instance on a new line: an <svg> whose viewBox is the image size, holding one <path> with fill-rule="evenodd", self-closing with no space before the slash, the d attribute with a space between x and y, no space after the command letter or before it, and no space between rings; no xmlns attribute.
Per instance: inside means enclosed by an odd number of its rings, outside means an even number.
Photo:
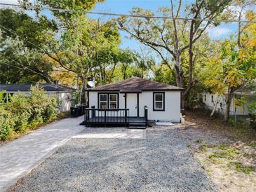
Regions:
<svg viewBox="0 0 256 192"><path fill-rule="evenodd" d="M245 99L245 103L236 102L236 100ZM235 93L234 99L231 102L230 106L230 115L231 116L247 116L248 104L256 100L256 91L244 90L237 91ZM211 94L210 92L203 92L202 101L205 104L207 109L213 110L215 104L217 103L216 111L220 114L225 114L226 112L226 98L224 96L219 96L217 94Z"/></svg>

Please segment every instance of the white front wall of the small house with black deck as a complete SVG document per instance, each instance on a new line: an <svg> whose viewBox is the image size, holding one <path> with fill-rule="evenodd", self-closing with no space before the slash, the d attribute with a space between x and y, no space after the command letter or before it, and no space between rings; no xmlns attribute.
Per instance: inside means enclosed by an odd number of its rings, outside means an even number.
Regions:
<svg viewBox="0 0 256 192"><path fill-rule="evenodd" d="M106 92L106 91L105 91ZM123 99L123 93L119 93L119 108L125 108L125 100ZM129 93L127 93L129 97ZM134 102L129 102L137 105L137 97ZM97 109L97 92L89 92L89 107L95 106ZM166 91L165 92L165 111L153 111L153 91L144 91L139 95L139 113L140 116L144 116L144 106L148 108L148 119L151 121L172 121L180 122L180 91Z"/></svg>

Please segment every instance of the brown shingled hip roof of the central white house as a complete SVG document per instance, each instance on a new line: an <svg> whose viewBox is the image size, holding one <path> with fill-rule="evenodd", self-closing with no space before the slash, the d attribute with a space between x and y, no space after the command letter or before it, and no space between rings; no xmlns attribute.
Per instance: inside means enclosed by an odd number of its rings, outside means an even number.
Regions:
<svg viewBox="0 0 256 192"><path fill-rule="evenodd" d="M90 90L112 90L120 92L142 92L143 90L183 90L183 88L167 85L156 81L149 81L144 78L132 77L116 83L109 83L107 85L100 85Z"/></svg>

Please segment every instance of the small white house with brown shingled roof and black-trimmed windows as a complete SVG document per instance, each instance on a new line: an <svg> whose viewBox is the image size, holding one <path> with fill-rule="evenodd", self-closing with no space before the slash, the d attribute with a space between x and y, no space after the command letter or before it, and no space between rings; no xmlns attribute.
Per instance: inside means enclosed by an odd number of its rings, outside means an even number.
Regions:
<svg viewBox="0 0 256 192"><path fill-rule="evenodd" d="M182 90L173 85L133 77L88 89L88 106L95 108L91 109L93 116L112 116L113 119L128 116L130 122L144 117L147 121L180 122ZM104 121L108 121L108 118Z"/></svg>

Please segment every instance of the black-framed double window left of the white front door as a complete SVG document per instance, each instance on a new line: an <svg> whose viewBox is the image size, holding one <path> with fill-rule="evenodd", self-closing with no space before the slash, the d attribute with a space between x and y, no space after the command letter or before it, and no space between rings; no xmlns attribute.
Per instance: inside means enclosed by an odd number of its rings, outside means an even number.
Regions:
<svg viewBox="0 0 256 192"><path fill-rule="evenodd" d="M100 109L118 109L119 108L119 94L118 93L99 93L98 107Z"/></svg>

